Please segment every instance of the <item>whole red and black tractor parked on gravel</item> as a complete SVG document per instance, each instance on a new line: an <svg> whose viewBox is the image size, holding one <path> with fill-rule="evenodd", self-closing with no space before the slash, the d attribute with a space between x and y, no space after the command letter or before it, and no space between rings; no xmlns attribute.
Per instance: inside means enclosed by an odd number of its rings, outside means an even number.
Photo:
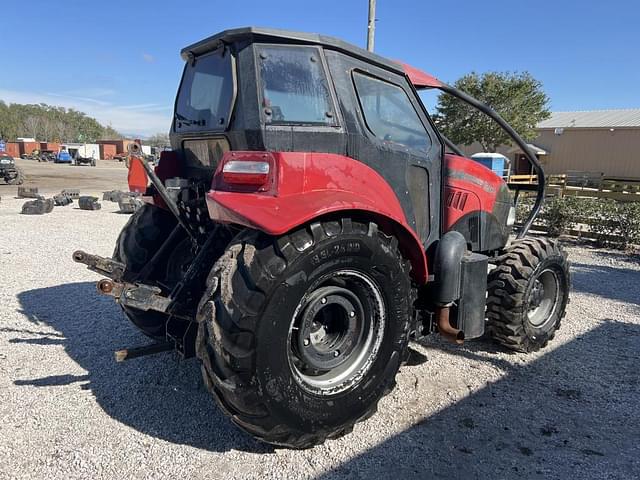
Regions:
<svg viewBox="0 0 640 480"><path fill-rule="evenodd" d="M411 339L486 331L530 352L553 338L568 262L526 236L544 172L498 114L321 35L228 30L182 58L173 150L155 170L132 154L148 204L112 259L74 254L156 341L119 359L195 354L240 428L306 448L375 412ZM509 185L438 132L424 88L489 115L530 160L536 203L515 238Z"/></svg>

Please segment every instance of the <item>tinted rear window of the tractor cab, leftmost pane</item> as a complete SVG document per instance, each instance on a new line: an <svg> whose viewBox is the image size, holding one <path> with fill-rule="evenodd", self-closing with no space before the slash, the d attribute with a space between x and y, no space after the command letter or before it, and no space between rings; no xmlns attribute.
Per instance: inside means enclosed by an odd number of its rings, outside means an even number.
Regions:
<svg viewBox="0 0 640 480"><path fill-rule="evenodd" d="M231 54L220 48L187 63L174 126L176 132L224 130L231 116L233 71Z"/></svg>

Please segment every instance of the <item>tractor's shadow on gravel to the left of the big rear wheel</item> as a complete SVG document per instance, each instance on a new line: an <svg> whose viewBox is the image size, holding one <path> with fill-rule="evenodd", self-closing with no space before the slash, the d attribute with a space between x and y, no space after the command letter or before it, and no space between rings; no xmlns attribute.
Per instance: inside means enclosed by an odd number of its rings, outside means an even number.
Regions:
<svg viewBox="0 0 640 480"><path fill-rule="evenodd" d="M144 434L211 451L273 451L242 433L216 407L195 360L177 361L174 354L165 353L116 363L115 350L150 340L113 301L96 293L95 283L29 290L18 299L29 320L60 334L16 330L19 336L10 341L42 348L64 345L87 374L20 379L16 385L56 388L84 382L81 388L91 390L108 415Z"/></svg>

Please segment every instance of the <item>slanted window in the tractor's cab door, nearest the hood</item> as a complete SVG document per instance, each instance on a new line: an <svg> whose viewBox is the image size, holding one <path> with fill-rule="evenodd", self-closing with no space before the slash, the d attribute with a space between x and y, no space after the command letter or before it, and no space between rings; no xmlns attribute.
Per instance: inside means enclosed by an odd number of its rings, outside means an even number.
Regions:
<svg viewBox="0 0 640 480"><path fill-rule="evenodd" d="M431 147L431 138L402 88L358 72L353 81L371 133L415 150Z"/></svg>

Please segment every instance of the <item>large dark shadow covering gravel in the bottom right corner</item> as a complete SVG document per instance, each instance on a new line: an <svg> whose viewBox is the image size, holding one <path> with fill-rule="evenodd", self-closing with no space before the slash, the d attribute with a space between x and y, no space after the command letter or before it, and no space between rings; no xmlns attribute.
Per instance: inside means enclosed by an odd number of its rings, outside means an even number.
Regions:
<svg viewBox="0 0 640 480"><path fill-rule="evenodd" d="M633 478L639 352L608 319L319 478Z"/></svg>

